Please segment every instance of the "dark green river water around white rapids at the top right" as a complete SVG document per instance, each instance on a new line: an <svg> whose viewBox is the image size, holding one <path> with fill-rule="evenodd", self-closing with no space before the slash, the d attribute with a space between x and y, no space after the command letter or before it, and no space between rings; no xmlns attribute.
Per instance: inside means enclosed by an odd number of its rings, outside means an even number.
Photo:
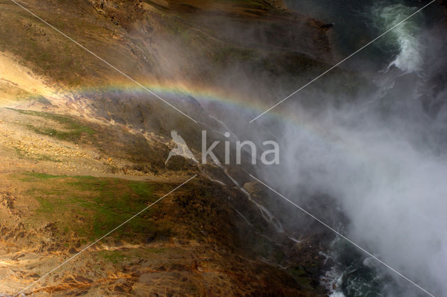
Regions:
<svg viewBox="0 0 447 297"><path fill-rule="evenodd" d="M418 0L285 0L288 8L309 15L328 24L334 24L331 41L339 59L343 59L369 43L400 20L411 15L430 1ZM399 37L415 34L443 16L439 4L432 3L402 24L400 29L388 33L380 40L356 54L343 67L379 70L400 53ZM405 37L405 36L404 36Z"/></svg>

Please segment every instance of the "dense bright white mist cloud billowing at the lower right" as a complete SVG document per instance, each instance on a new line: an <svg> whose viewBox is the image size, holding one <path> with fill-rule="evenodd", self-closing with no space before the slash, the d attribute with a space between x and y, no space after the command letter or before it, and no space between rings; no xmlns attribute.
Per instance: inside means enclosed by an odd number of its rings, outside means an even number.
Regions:
<svg viewBox="0 0 447 297"><path fill-rule="evenodd" d="M413 134L430 128L389 123L374 112L346 125L344 110L330 113L289 127L281 174L264 176L289 197L303 188L334 197L353 241L428 291L446 294L447 158Z"/></svg>

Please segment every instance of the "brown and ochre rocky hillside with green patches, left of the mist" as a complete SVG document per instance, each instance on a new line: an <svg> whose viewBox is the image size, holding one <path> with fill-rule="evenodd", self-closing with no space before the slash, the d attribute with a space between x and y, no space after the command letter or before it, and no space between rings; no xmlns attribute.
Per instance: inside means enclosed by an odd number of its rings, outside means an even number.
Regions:
<svg viewBox="0 0 447 297"><path fill-rule="evenodd" d="M197 153L194 135L220 125L184 90L291 89L330 62L328 26L279 1L22 5L59 31L0 1L0 292L17 294L198 174L24 293L325 294L320 228L279 232L251 201L267 197L256 185L247 197L218 167L164 162L170 130ZM142 86L170 89L200 125Z"/></svg>

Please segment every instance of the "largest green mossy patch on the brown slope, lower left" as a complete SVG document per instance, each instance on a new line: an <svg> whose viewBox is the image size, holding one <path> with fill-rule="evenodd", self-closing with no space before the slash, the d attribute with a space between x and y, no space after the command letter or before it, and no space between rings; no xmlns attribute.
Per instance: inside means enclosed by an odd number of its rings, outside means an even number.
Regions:
<svg viewBox="0 0 447 297"><path fill-rule="evenodd" d="M156 200L153 185L140 181L41 173L17 177L28 183L27 195L38 201L33 220L55 222L60 231L75 231L88 240L103 236ZM131 239L139 234L154 234L155 230L162 235L170 234L168 225L159 228L151 224L151 211L149 208L133 218L112 236Z"/></svg>

